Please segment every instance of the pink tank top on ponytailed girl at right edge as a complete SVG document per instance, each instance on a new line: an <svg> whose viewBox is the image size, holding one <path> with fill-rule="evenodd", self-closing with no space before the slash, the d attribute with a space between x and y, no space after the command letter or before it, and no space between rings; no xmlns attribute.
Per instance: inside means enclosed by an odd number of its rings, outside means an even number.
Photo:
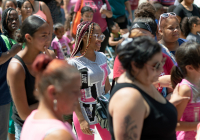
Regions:
<svg viewBox="0 0 200 140"><path fill-rule="evenodd" d="M200 121L200 93L198 87L183 79L180 85L188 85L191 89L191 99L188 102L180 121L199 122ZM177 131L177 140L195 140L196 131Z"/></svg>

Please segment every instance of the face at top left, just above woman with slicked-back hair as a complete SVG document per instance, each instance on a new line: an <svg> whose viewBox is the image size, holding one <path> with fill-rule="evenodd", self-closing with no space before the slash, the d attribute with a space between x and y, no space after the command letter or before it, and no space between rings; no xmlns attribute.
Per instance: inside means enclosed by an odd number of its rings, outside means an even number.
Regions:
<svg viewBox="0 0 200 140"><path fill-rule="evenodd" d="M30 15L32 15L33 9L29 1L25 1L21 8L21 13L24 19Z"/></svg>

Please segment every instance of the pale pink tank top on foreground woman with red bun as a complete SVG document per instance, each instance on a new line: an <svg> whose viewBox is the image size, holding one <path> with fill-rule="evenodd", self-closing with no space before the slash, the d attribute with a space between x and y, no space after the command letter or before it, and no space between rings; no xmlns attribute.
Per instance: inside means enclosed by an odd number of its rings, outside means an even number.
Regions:
<svg viewBox="0 0 200 140"><path fill-rule="evenodd" d="M37 110L32 111L32 113L26 119L20 140L43 140L45 136L53 131L64 129L69 132L74 140L77 140L72 132L71 125L68 123L63 123L62 121L56 119L34 119Z"/></svg>

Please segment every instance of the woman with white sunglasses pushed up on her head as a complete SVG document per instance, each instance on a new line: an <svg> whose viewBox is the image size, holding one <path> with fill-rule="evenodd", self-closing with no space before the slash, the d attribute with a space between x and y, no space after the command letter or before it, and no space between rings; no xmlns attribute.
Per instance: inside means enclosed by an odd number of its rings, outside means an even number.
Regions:
<svg viewBox="0 0 200 140"><path fill-rule="evenodd" d="M160 16L159 20L159 33L162 36L159 43L162 45L162 51L171 57L174 64L176 49L185 40L180 39L180 26L175 13L164 13Z"/></svg>

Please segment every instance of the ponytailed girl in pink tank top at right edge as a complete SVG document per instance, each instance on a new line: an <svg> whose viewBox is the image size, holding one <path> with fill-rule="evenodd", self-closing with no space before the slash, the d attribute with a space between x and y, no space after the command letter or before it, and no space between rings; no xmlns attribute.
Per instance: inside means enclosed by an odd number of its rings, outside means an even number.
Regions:
<svg viewBox="0 0 200 140"><path fill-rule="evenodd" d="M176 65L171 71L173 88L179 85L179 95L189 97L176 106L178 112L177 140L195 140L200 121L200 44L186 42L176 51Z"/></svg>

